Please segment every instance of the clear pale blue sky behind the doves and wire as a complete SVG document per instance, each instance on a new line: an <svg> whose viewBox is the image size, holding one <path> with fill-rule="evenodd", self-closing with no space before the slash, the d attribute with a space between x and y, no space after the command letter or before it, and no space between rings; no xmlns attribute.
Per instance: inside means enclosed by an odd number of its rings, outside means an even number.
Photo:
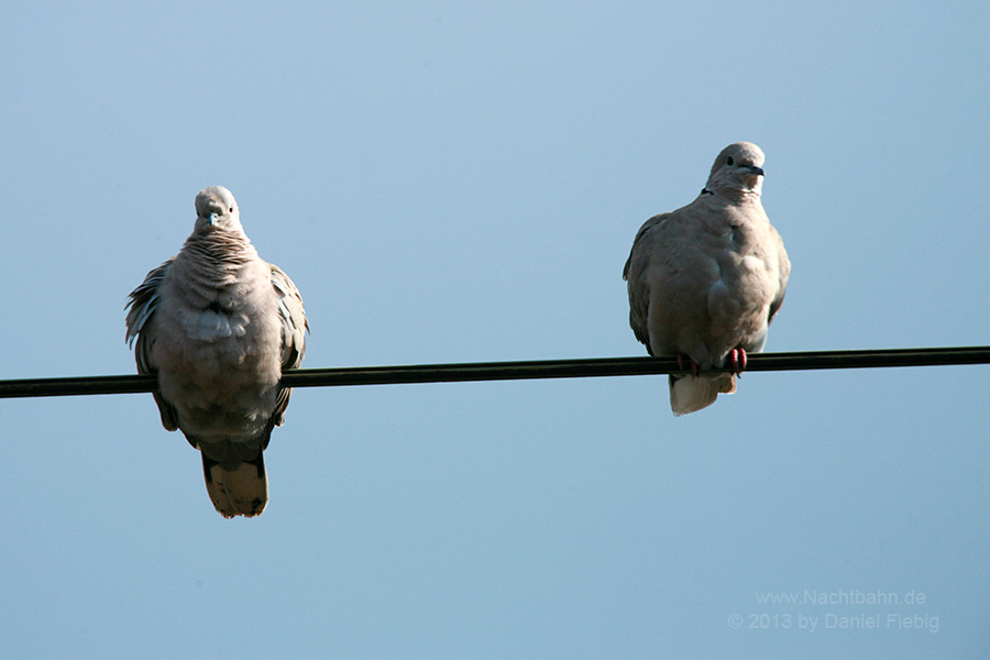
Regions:
<svg viewBox="0 0 990 660"><path fill-rule="evenodd" d="M127 295L209 185L301 289L305 367L642 355L636 230L740 140L793 263L769 351L990 343L988 33L983 0L0 2L0 378L133 373ZM751 373L679 419L666 376L297 389L253 520L150 395L2 400L2 654L986 658L988 377Z"/></svg>

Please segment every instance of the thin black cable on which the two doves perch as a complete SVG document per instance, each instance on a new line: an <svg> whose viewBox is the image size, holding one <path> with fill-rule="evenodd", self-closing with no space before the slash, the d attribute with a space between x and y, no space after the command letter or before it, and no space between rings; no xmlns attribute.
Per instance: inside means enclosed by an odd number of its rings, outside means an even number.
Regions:
<svg viewBox="0 0 990 660"><path fill-rule="evenodd" d="M872 369L990 363L990 346L884 349L867 351L810 351L749 355L747 372L820 369ZM728 371L712 370L712 371ZM684 373L673 358L596 358L528 362L473 362L407 366L300 369L286 372L289 387L395 385L403 383L464 383L534 378L590 378ZM0 398L134 394L153 392L154 376L77 376L0 381Z"/></svg>

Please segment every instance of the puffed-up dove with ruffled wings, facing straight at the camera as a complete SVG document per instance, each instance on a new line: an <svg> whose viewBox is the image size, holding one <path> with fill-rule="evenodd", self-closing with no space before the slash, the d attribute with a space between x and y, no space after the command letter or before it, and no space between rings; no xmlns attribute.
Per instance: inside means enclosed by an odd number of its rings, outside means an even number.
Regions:
<svg viewBox="0 0 990 660"><path fill-rule="evenodd" d="M263 451L282 426L309 329L288 275L257 255L230 190L196 196L196 227L182 251L147 274L128 300L138 371L157 374L162 425L202 453L207 492L226 518L268 502Z"/></svg>

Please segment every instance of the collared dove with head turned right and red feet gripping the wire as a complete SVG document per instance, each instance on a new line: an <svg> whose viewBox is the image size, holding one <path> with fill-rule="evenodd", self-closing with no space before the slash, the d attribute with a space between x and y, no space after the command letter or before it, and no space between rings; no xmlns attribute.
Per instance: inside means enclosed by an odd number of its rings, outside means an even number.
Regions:
<svg viewBox="0 0 990 660"><path fill-rule="evenodd" d="M722 150L701 195L647 220L626 262L636 338L650 355L686 359L692 371L670 376L675 416L736 391L733 373L704 370L729 361L738 374L746 352L763 349L783 302L791 262L760 204L762 165L756 144Z"/></svg>

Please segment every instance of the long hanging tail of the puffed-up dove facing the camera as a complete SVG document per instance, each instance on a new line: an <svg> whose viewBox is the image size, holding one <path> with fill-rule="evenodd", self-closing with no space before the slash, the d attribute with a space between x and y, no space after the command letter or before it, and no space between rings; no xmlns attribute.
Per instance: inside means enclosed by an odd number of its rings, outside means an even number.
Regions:
<svg viewBox="0 0 990 660"><path fill-rule="evenodd" d="M268 479L264 454L258 451L250 461L224 461L223 464L202 454L202 472L207 493L224 518L257 516L268 504Z"/></svg>

